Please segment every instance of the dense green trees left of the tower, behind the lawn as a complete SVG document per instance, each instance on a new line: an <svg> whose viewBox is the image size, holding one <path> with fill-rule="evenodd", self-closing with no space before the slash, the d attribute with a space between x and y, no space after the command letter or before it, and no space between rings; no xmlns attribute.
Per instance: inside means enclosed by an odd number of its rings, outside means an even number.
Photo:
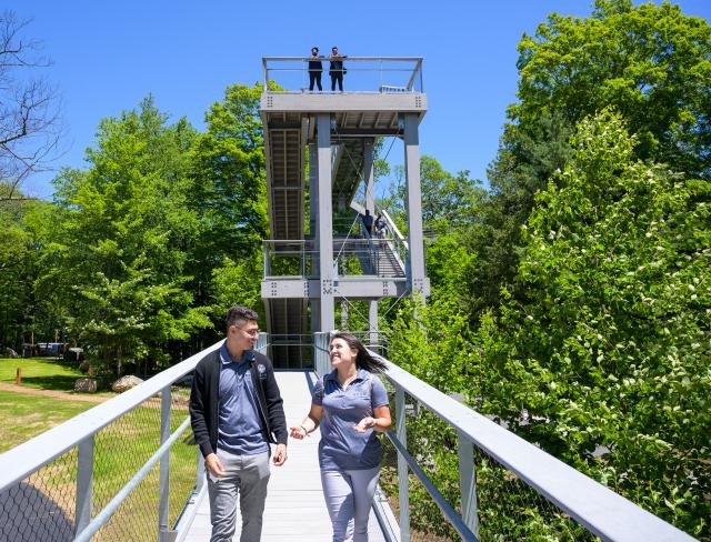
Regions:
<svg viewBox="0 0 711 542"><path fill-rule="evenodd" d="M69 339L107 372L150 373L199 348L228 305L256 305L260 94L230 87L204 133L169 124L148 98L101 122L87 168L56 179L53 204L6 202L0 342Z"/></svg>

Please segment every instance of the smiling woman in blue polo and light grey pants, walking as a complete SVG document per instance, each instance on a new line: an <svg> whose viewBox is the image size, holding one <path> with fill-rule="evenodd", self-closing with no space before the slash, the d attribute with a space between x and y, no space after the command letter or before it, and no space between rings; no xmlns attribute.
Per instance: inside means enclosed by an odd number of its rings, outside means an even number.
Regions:
<svg viewBox="0 0 711 542"><path fill-rule="evenodd" d="M373 374L385 364L350 333L333 335L330 357L333 371L317 382L309 414L290 431L303 439L321 424L319 464L333 542L365 542L382 458L375 432L392 423L388 393Z"/></svg>

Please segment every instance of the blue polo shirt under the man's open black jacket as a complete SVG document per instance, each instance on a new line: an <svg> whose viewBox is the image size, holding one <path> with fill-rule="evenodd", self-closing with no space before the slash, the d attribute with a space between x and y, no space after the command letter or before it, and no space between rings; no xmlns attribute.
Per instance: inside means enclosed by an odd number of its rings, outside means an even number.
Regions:
<svg viewBox="0 0 711 542"><path fill-rule="evenodd" d="M220 405L218 449L236 455L254 455L269 450L259 423L254 382L249 370L254 353L244 351L232 361L227 341L220 347Z"/></svg>

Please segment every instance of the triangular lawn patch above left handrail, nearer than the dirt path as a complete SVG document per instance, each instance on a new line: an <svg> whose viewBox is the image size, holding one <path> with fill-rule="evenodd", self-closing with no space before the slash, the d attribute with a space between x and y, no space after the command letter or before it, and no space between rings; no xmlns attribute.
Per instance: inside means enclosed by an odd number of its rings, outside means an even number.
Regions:
<svg viewBox="0 0 711 542"><path fill-rule="evenodd" d="M0 391L0 453L96 406L84 401Z"/></svg>

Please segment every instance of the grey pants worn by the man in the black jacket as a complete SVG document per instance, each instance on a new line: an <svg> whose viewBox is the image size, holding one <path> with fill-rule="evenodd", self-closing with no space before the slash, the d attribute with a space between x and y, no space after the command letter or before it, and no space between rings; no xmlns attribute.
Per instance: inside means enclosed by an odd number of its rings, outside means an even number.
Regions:
<svg viewBox="0 0 711 542"><path fill-rule="evenodd" d="M226 472L216 479L208 473L210 495L210 542L232 542L237 523L237 495L240 494L242 534L240 542L259 542L262 535L262 514L269 482L269 452L256 455L233 455L218 450Z"/></svg>

